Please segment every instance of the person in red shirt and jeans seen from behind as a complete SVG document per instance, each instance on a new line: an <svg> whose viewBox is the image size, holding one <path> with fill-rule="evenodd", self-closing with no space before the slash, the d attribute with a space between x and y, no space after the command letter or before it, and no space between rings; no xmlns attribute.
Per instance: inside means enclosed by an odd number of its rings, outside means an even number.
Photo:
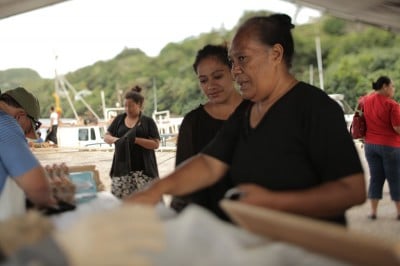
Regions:
<svg viewBox="0 0 400 266"><path fill-rule="evenodd" d="M362 99L367 124L365 156L370 171L369 218L377 218L378 203L387 180L400 220L400 106L393 100L395 88L390 78L379 77L372 88L374 92Z"/></svg>

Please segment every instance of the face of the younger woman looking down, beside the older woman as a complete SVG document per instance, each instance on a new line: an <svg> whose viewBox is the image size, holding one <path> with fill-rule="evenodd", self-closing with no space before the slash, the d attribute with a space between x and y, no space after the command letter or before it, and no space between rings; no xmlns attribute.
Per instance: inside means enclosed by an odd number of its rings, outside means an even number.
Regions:
<svg viewBox="0 0 400 266"><path fill-rule="evenodd" d="M234 93L229 66L216 57L207 57L200 61L197 67L197 77L200 88L212 103L224 103Z"/></svg>

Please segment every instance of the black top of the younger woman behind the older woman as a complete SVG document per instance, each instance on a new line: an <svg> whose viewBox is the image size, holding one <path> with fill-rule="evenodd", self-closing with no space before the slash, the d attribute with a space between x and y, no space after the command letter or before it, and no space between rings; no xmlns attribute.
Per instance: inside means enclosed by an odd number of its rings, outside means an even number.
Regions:
<svg viewBox="0 0 400 266"><path fill-rule="evenodd" d="M215 137L224 122L225 120L210 116L204 110L203 105L187 113L179 128L175 164L179 165L189 157L199 153ZM227 215L219 207L218 202L231 187L232 181L228 176L225 176L210 187L185 195L184 197L175 197L171 207L180 210L181 207L176 207L177 201L180 199L201 205L215 213L218 217L228 220Z"/></svg>

